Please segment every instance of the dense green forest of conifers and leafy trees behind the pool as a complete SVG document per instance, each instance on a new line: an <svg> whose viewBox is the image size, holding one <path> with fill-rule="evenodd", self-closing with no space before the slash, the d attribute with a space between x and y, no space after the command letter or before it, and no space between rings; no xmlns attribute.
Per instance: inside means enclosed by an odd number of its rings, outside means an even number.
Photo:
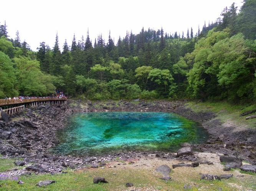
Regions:
<svg viewBox="0 0 256 191"><path fill-rule="evenodd" d="M0 98L45 96L56 89L86 99L256 100L256 0L233 3L214 23L179 34L126 32L117 44L73 36L32 51L0 23Z"/></svg>

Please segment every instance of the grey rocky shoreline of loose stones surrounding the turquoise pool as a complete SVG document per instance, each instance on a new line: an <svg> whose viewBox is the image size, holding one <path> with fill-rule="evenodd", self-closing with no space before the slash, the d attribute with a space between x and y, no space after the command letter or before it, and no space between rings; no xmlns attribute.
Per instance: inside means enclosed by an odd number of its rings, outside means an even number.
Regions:
<svg viewBox="0 0 256 191"><path fill-rule="evenodd" d="M51 153L48 149L58 144L55 132L65 126L65 119L75 112L97 112L97 111L139 111L139 112L175 112L192 120L199 121L210 136L206 144L189 145L194 150L200 152L213 152L232 154L239 156L242 160L256 164L255 157L255 135L256 131L251 129L231 133L223 129L220 121L213 120L214 113L195 113L190 108L184 107L186 101L154 101L154 102L126 102L126 101L106 101L102 102L81 102L74 101L66 105L41 105L36 108L26 109L14 117L18 120L0 121L0 154L3 157L22 158L22 163L17 161L17 165L25 165L21 170L14 169L5 172L9 176L36 173L57 173L62 172L67 167L79 169L91 165L92 167L104 167L106 161L118 159L122 161L130 159L157 157L160 159L174 159L176 154L168 152L122 152L109 153L104 156L95 157L73 157ZM188 145L185 145L188 146ZM181 155L181 161L201 161L195 155ZM36 164L36 165L34 165Z"/></svg>

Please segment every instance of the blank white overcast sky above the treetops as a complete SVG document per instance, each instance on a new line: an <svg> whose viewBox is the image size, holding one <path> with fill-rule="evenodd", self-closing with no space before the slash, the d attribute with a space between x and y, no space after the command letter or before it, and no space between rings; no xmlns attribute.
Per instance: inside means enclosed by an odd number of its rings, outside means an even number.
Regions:
<svg viewBox="0 0 256 191"><path fill-rule="evenodd" d="M109 30L115 44L119 35L124 37L126 31L137 34L142 27L160 29L174 33L193 28L194 34L206 21L216 21L221 11L235 2L238 10L242 0L5 0L1 2L0 22L6 20L8 35L15 38L18 30L20 39L30 45L32 50L46 42L51 48L58 31L59 46L65 39L71 45L73 34L76 40L87 29L94 44L94 38L102 33L108 39Z"/></svg>

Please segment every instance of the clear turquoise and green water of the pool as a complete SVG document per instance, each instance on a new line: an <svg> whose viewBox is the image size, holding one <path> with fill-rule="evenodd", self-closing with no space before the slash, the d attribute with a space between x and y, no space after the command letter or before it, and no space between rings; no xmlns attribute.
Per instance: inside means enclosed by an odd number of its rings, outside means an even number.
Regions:
<svg viewBox="0 0 256 191"><path fill-rule="evenodd" d="M207 131L195 121L162 112L79 113L58 131L58 154L103 155L124 151L176 151L183 142L202 143Z"/></svg>

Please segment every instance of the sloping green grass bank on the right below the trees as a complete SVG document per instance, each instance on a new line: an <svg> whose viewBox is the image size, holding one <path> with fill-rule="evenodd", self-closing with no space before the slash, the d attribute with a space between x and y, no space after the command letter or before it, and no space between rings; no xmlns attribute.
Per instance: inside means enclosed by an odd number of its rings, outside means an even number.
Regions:
<svg viewBox="0 0 256 191"><path fill-rule="evenodd" d="M216 119L219 119L227 125L232 125L232 122L237 126L243 126L243 128L255 128L256 118L246 120L245 117L239 117L243 112L247 112L256 109L256 104L231 104L227 101L221 102L188 102L190 107L195 112L214 112L216 113ZM253 115L254 113L250 114ZM230 124L228 124L230 123Z"/></svg>

